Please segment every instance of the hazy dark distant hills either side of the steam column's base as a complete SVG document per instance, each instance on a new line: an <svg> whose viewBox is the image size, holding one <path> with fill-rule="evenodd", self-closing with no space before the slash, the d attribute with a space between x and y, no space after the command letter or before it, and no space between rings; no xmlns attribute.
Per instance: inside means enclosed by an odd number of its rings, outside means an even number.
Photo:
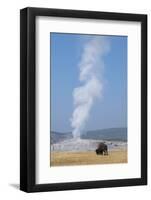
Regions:
<svg viewBox="0 0 151 200"><path fill-rule="evenodd" d="M73 138L72 133L59 133L52 131L50 134L51 143L59 143ZM127 128L109 128L101 130L91 130L85 132L81 139L127 141Z"/></svg>

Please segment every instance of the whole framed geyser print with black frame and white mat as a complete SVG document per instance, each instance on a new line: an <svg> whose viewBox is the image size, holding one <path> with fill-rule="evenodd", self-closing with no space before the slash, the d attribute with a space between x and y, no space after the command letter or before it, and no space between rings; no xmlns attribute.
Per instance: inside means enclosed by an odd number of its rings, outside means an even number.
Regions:
<svg viewBox="0 0 151 200"><path fill-rule="evenodd" d="M147 16L20 12L20 189L147 184Z"/></svg>

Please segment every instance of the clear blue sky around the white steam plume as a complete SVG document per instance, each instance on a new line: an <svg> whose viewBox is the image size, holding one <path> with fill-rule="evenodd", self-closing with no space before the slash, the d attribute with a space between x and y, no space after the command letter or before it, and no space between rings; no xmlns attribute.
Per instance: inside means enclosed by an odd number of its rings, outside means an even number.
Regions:
<svg viewBox="0 0 151 200"><path fill-rule="evenodd" d="M50 33L51 130L69 132L73 90L81 85L82 48L93 35ZM110 51L103 57L103 97L91 109L85 130L127 127L127 37L105 36Z"/></svg>

